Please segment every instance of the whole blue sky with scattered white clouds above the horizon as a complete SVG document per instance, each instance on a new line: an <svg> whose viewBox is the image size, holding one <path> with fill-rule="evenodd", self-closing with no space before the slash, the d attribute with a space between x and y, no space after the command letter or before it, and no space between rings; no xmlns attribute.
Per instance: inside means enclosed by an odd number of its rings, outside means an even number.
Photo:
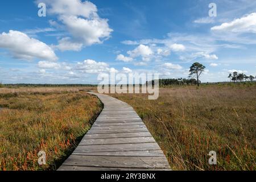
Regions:
<svg viewBox="0 0 256 182"><path fill-rule="evenodd" d="M10 0L0 15L3 83L97 84L110 72L187 78L195 61L206 67L204 82L256 75L254 0Z"/></svg>

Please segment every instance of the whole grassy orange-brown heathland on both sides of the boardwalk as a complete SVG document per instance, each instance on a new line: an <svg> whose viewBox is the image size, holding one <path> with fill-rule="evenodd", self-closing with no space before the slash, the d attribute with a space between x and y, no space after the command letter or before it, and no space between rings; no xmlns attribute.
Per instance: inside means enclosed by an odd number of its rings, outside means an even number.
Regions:
<svg viewBox="0 0 256 182"><path fill-rule="evenodd" d="M84 89L97 90L96 87ZM102 109L78 88L0 89L0 170L56 169ZM134 107L174 170L255 170L256 85L204 84L111 94ZM47 166L37 163L46 151ZM217 165L209 165L210 151Z"/></svg>

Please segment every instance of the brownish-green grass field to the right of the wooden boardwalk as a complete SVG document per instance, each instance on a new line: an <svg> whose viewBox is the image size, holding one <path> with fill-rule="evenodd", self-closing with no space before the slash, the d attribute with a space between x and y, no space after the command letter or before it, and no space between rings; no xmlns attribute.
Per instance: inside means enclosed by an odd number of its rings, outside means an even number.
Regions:
<svg viewBox="0 0 256 182"><path fill-rule="evenodd" d="M255 170L256 85L176 86L112 94L137 111L174 170ZM217 165L209 165L210 151Z"/></svg>

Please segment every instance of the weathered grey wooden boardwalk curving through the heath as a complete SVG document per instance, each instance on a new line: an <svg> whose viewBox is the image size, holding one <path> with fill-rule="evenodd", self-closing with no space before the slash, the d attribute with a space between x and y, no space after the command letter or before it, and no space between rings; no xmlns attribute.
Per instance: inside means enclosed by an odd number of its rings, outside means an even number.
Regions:
<svg viewBox="0 0 256 182"><path fill-rule="evenodd" d="M166 156L133 107L89 92L104 109L58 170L170 170Z"/></svg>

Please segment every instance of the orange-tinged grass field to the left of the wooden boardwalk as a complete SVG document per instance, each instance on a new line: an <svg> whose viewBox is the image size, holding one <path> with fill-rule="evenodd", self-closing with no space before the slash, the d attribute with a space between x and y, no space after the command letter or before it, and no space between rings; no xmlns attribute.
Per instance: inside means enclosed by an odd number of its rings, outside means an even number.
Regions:
<svg viewBox="0 0 256 182"><path fill-rule="evenodd" d="M56 169L102 109L77 88L0 89L0 170ZM39 166L38 152L46 152Z"/></svg>

